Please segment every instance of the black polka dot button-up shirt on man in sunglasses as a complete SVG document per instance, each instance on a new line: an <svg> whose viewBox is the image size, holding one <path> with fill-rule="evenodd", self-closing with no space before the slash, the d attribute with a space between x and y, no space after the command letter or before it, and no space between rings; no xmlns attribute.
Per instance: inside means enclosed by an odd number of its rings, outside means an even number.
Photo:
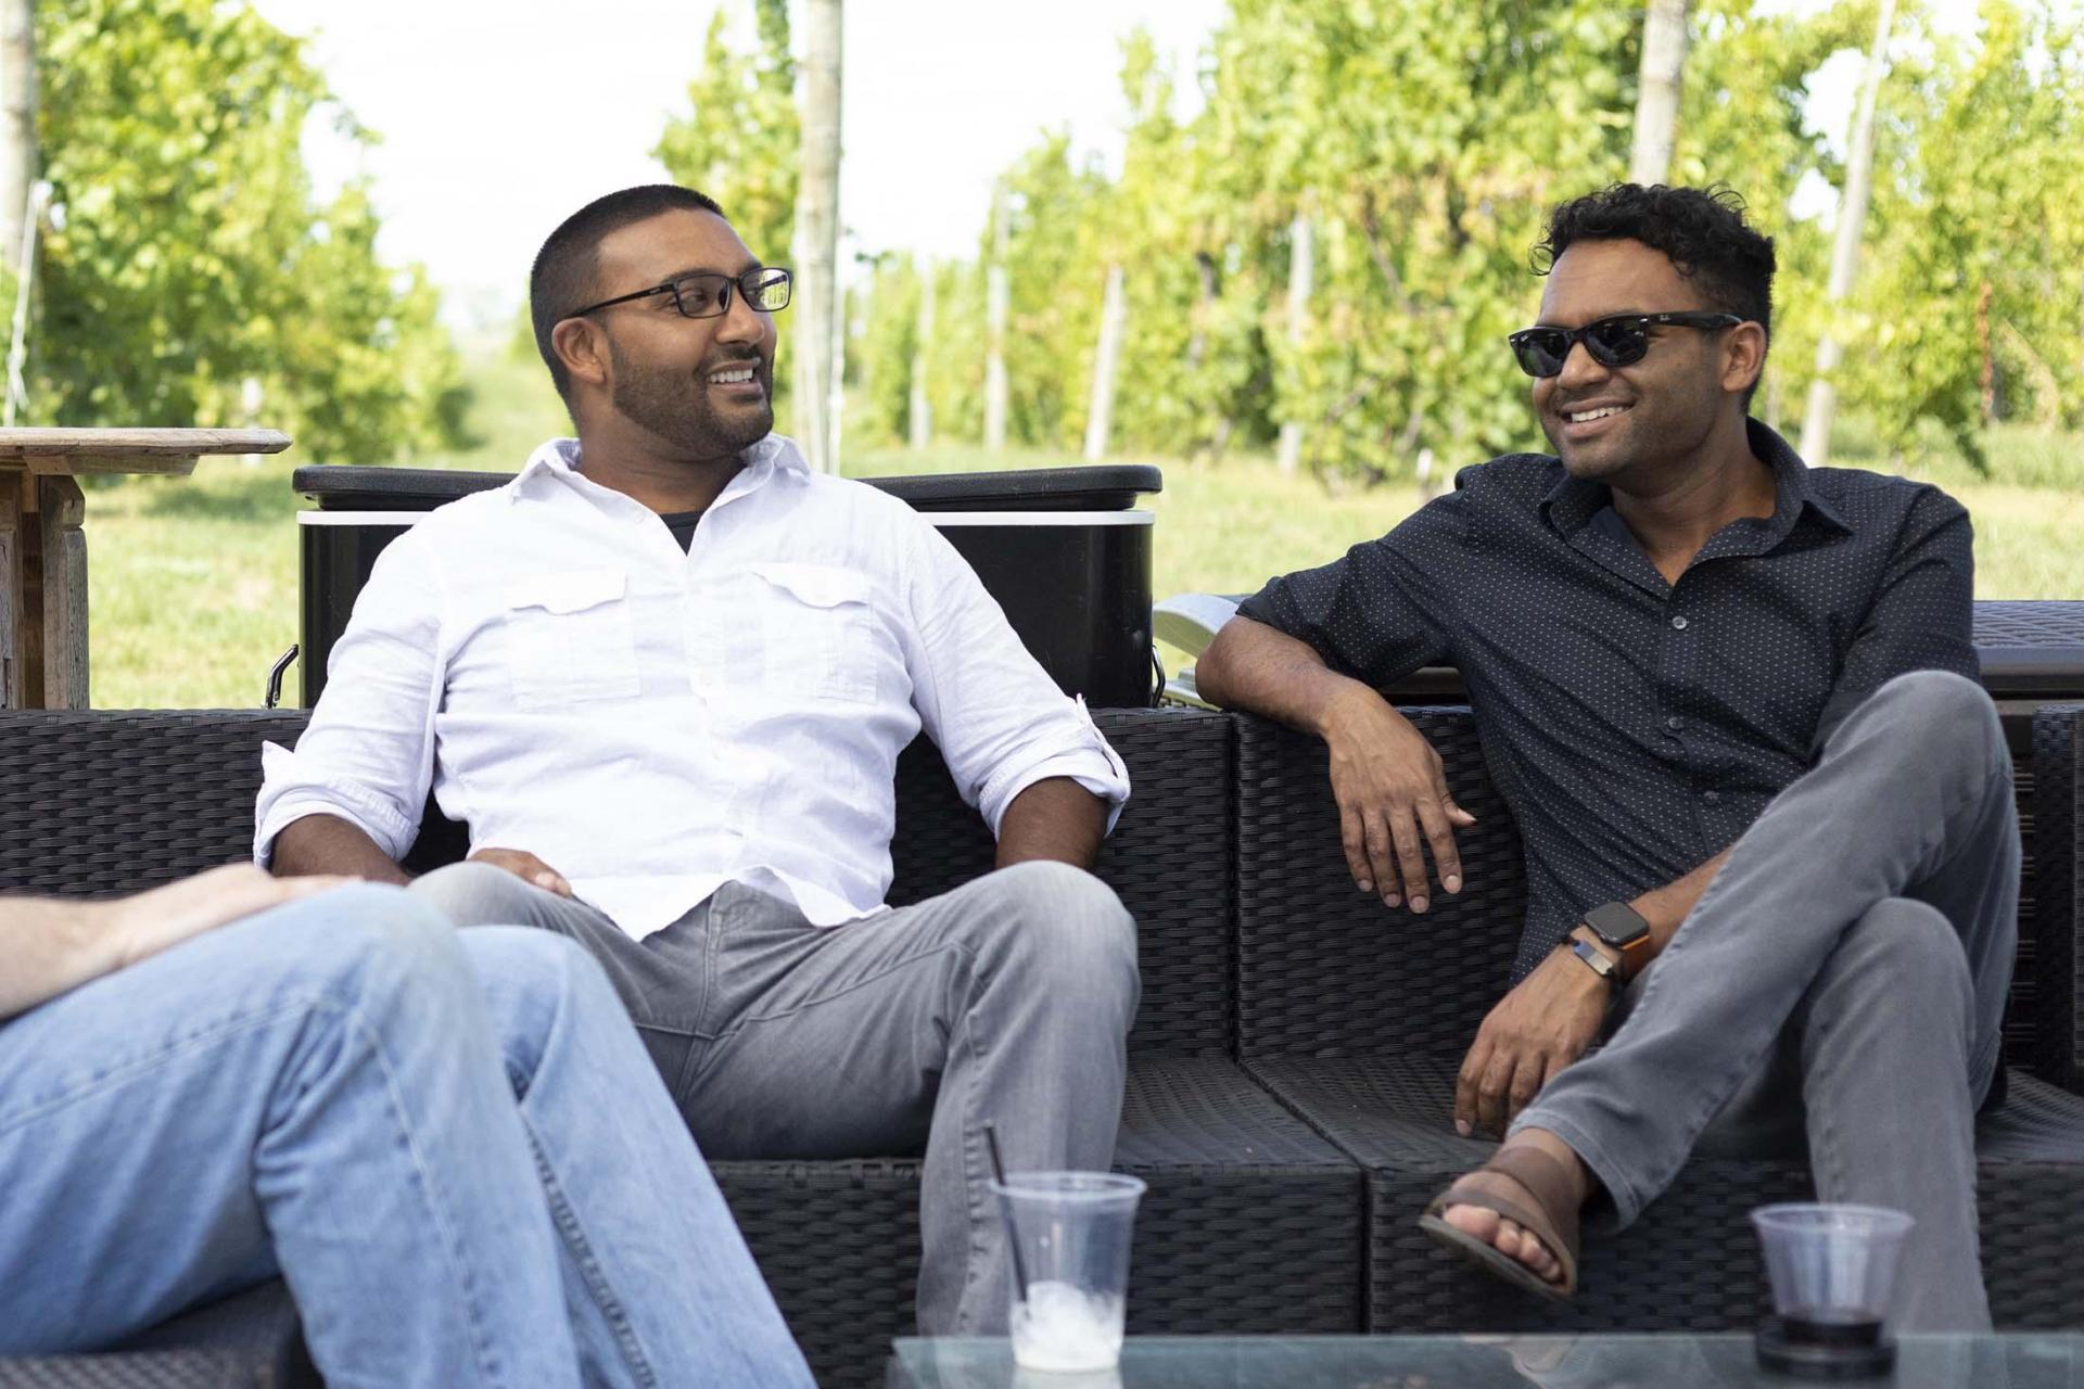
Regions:
<svg viewBox="0 0 2084 1389"><path fill-rule="evenodd" d="M1605 485L1511 454L1240 608L1378 687L1461 668L1528 854L1515 979L1592 906L1728 848L1890 677L1978 675L1967 512L1924 483L1807 469L1759 423L1751 448L1773 514L1717 531L1678 583Z"/></svg>

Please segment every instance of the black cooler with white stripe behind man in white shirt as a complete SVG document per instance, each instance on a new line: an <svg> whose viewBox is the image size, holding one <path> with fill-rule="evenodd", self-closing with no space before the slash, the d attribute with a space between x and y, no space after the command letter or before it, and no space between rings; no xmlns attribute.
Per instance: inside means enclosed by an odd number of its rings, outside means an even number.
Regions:
<svg viewBox="0 0 2084 1389"><path fill-rule="evenodd" d="M511 473L302 466L292 485L319 504L296 514L302 562L302 704L325 689L325 662L369 571L398 535ZM1163 487L1150 464L869 477L902 498L969 560L1042 668L1092 706L1155 700L1150 652L1152 514L1136 498Z"/></svg>

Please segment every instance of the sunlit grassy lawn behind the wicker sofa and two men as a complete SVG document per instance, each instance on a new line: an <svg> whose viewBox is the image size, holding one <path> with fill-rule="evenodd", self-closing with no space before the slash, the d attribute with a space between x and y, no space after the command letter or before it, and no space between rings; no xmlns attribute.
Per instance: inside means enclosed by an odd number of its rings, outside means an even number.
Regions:
<svg viewBox="0 0 2084 1389"><path fill-rule="evenodd" d="M486 373L488 435L444 466L513 471L565 429L540 369ZM1976 516L1978 598L2084 598L2084 439L1999 431L1994 475L1974 481L1936 464ZM96 708L258 706L267 671L298 627L298 554L290 458L258 466L204 460L185 479L125 479L88 496ZM848 473L948 473L1061 466L1061 454L990 456L973 448L863 450ZM1221 464L1152 460L1165 469L1157 512L1155 591L1236 594L1267 575L1323 562L1380 535L1417 506L1409 485L1332 494L1282 477L1263 458ZM2024 485L2028 479L2040 485ZM296 675L286 681L296 698Z"/></svg>

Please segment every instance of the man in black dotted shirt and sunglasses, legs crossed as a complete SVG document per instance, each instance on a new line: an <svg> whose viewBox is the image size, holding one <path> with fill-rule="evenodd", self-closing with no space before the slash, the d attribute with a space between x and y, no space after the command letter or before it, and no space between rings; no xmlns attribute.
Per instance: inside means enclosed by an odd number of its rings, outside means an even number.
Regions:
<svg viewBox="0 0 2084 1389"><path fill-rule="evenodd" d="M1425 664L1469 685L1530 902L1455 1095L1461 1133L1507 1141L1425 1214L1436 1239L1567 1295L1586 1202L1626 1224L1709 1131L1794 1133L1821 1199L1917 1218L1894 1324L1986 1329L1971 1118L2019 850L1967 514L1809 471L1746 419L1773 250L1734 198L1611 187L1544 250L1513 352L1557 456L1467 469L1275 579L1200 689L1325 739L1357 885L1423 914L1425 854L1461 891L1469 818L1375 689Z"/></svg>

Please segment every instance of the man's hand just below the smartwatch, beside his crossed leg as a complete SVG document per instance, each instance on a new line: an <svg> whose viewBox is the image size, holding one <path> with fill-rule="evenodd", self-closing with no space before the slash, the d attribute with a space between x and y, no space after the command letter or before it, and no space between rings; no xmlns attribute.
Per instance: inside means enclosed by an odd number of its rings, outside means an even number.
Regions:
<svg viewBox="0 0 2084 1389"><path fill-rule="evenodd" d="M1584 1056L1607 1018L1611 987L1567 948L1557 948L1475 1031L1455 1081L1455 1131L1505 1137L1557 1070Z"/></svg>

